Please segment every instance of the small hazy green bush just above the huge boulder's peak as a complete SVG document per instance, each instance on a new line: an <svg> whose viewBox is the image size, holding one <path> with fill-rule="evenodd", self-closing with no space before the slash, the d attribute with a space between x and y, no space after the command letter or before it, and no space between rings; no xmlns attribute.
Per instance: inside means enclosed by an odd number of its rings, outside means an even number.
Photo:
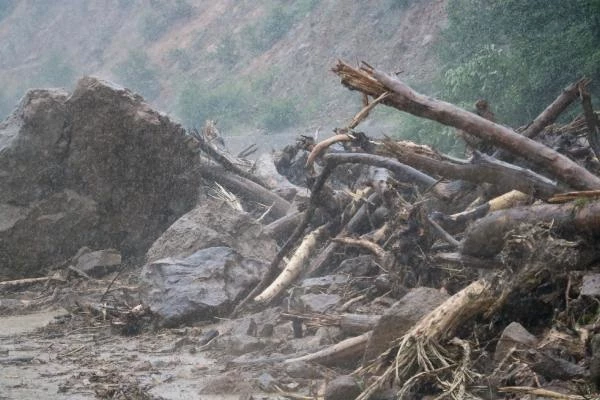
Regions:
<svg viewBox="0 0 600 400"><path fill-rule="evenodd" d="M147 100L160 94L157 68L143 51L130 51L127 58L115 66L113 73L120 79L119 83L141 93Z"/></svg>

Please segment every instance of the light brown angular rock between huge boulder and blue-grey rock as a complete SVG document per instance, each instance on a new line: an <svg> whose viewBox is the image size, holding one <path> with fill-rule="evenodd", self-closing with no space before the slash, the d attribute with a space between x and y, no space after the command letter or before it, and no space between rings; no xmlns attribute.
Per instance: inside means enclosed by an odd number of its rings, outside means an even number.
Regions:
<svg viewBox="0 0 600 400"><path fill-rule="evenodd" d="M235 211L224 202L206 200L175 221L148 250L146 260L186 257L217 246L231 247L244 257L272 260L277 244L263 229L250 215Z"/></svg>

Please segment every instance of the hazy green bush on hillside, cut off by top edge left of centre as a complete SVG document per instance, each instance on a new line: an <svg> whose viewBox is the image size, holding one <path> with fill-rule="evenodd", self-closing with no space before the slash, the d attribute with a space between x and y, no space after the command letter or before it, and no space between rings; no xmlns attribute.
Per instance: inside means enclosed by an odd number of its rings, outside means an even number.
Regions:
<svg viewBox="0 0 600 400"><path fill-rule="evenodd" d="M194 11L186 0L154 0L142 17L140 33L148 41L160 38L175 22L188 17Z"/></svg>

